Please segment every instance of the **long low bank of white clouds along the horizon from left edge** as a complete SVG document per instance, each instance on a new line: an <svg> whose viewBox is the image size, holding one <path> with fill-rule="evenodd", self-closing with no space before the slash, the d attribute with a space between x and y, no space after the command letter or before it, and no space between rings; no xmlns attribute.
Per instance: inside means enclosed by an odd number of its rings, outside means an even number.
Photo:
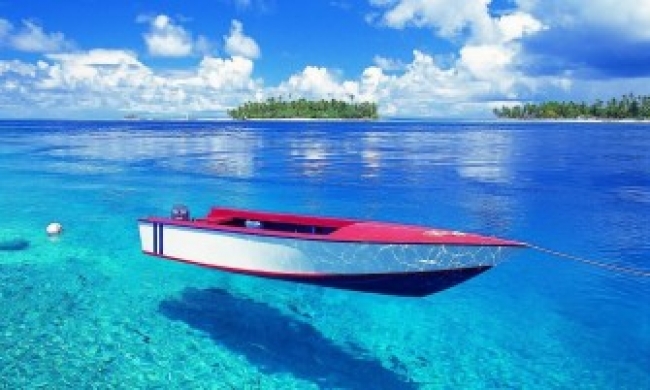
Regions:
<svg viewBox="0 0 650 390"><path fill-rule="evenodd" d="M253 61L244 57L206 56L195 69L162 73L132 52L95 49L48 55L36 64L0 61L0 93L17 94L15 86L23 86L20 99L29 101L38 115L71 110L224 115L226 108L243 101L278 94L346 100L353 95L355 101L378 102L382 115L485 115L485 105L469 103L492 93L495 84L478 80L473 72L480 72L463 61L443 69L430 55L414 51L399 73L369 66L358 79L345 80L330 69L307 66L277 87L263 88L254 78Z"/></svg>

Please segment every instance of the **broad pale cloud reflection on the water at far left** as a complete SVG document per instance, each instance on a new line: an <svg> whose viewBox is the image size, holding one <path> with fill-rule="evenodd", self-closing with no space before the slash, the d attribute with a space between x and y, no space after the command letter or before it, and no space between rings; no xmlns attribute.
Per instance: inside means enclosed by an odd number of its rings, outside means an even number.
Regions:
<svg viewBox="0 0 650 390"><path fill-rule="evenodd" d="M140 165L175 171L248 178L255 172L258 138L237 128L202 128L157 132L118 126L101 131L48 133L41 152L58 159L66 172L115 172ZM109 168L110 167L110 168Z"/></svg>

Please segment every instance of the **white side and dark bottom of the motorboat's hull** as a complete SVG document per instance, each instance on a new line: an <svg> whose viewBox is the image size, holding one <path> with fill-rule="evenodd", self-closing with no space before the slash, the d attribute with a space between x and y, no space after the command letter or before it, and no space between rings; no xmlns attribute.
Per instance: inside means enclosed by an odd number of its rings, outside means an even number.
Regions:
<svg viewBox="0 0 650 390"><path fill-rule="evenodd" d="M146 254L247 275L403 296L452 287L510 247L323 241L140 220Z"/></svg>

